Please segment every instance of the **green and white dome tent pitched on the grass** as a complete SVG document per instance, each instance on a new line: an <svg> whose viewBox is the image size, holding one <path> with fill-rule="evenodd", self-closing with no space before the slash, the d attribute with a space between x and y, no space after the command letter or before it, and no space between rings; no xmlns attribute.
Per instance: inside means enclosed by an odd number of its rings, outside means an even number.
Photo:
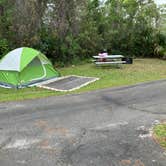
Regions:
<svg viewBox="0 0 166 166"><path fill-rule="evenodd" d="M4 87L26 87L58 76L46 56L32 48L17 48L0 61L0 85Z"/></svg>

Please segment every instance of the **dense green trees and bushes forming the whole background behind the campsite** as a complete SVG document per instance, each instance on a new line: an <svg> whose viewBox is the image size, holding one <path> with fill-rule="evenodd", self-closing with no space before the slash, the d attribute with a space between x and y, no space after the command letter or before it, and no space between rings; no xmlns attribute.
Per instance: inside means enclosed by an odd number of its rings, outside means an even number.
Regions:
<svg viewBox="0 0 166 166"><path fill-rule="evenodd" d="M165 9L153 0L0 0L0 56L28 46L60 65L103 49L166 57Z"/></svg>

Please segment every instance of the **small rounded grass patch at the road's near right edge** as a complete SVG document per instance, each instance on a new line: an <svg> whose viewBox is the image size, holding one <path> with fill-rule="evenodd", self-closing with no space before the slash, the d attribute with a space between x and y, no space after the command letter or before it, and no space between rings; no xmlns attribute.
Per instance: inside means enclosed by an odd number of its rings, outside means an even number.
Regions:
<svg viewBox="0 0 166 166"><path fill-rule="evenodd" d="M166 123L154 127L154 137L162 147L166 148Z"/></svg>

